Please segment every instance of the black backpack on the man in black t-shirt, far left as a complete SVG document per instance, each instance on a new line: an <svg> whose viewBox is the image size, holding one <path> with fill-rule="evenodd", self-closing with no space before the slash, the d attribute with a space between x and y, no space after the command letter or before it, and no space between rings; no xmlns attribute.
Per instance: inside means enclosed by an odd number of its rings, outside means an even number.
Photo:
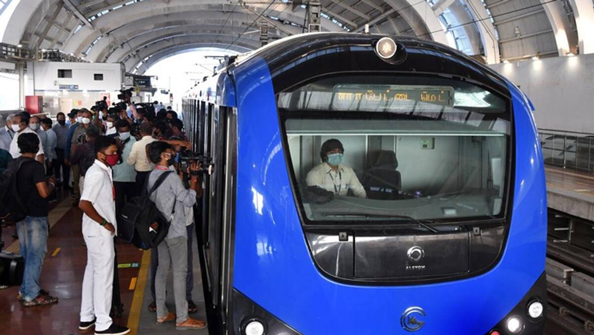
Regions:
<svg viewBox="0 0 594 335"><path fill-rule="evenodd" d="M8 162L6 171L0 174L0 218L4 221L18 222L27 216L27 207L18 190L17 173L29 162L35 160L21 156Z"/></svg>

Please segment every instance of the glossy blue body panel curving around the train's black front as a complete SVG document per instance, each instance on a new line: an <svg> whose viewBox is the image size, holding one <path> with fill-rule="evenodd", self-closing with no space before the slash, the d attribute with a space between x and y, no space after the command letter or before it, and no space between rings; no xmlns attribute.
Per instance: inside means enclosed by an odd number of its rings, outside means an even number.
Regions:
<svg viewBox="0 0 594 335"><path fill-rule="evenodd" d="M312 260L287 173L267 61L255 55L214 76L207 82L213 89L215 79L217 101L236 107L238 115L232 287L293 330L308 335L403 334L401 315L419 306L426 312L425 324L415 333L484 334L504 320L544 273L544 165L529 102L513 84L507 85L513 112L513 202L497 264L453 281L358 285L328 278Z"/></svg>

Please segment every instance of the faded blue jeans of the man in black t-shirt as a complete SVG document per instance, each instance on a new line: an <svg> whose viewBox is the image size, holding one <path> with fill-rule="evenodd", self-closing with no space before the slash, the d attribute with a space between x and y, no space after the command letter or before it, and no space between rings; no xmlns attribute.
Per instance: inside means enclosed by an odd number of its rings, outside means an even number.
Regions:
<svg viewBox="0 0 594 335"><path fill-rule="evenodd" d="M41 290L39 277L48 252L48 228L48 217L26 217L17 222L18 242L25 261L20 293L27 302L37 298Z"/></svg>

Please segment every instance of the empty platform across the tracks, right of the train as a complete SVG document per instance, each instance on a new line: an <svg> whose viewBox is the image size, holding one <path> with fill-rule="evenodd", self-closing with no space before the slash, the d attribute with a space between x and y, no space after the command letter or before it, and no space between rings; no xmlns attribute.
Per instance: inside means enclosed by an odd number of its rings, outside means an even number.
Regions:
<svg viewBox="0 0 594 335"><path fill-rule="evenodd" d="M549 208L594 221L594 175L573 170L545 168Z"/></svg>

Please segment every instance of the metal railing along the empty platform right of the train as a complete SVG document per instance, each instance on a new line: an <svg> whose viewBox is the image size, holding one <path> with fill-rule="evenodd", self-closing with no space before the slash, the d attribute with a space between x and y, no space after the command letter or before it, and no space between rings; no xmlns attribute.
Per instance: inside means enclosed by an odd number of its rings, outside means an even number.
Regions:
<svg viewBox="0 0 594 335"><path fill-rule="evenodd" d="M539 129L545 164L594 173L594 134Z"/></svg>

